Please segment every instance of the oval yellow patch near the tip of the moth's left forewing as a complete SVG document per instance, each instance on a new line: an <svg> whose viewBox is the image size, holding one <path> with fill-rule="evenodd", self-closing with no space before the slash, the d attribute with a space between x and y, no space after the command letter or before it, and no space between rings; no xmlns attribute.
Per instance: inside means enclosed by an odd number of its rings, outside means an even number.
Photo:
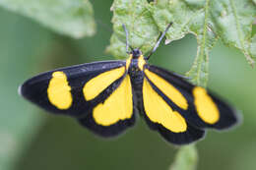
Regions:
<svg viewBox="0 0 256 170"><path fill-rule="evenodd" d="M50 103L58 109L68 109L72 104L71 87L68 85L67 76L63 72L52 73L52 78L47 88Z"/></svg>

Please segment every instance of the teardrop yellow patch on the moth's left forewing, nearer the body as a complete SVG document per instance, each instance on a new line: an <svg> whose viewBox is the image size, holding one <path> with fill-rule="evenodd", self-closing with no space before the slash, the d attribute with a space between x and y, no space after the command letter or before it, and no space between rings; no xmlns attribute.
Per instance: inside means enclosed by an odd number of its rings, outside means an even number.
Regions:
<svg viewBox="0 0 256 170"><path fill-rule="evenodd" d="M99 74L96 78L90 80L83 88L86 100L94 99L107 86L121 78L125 73L125 68L121 67Z"/></svg>

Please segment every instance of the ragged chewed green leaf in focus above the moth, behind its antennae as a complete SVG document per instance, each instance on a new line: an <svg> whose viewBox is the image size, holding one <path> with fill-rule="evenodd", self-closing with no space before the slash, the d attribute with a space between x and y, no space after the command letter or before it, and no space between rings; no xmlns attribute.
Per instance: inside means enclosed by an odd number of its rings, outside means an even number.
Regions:
<svg viewBox="0 0 256 170"><path fill-rule="evenodd" d="M251 0L115 0L112 5L113 30L107 52L124 58L125 24L133 47L148 52L156 43L160 31L173 22L165 43L180 39L187 33L197 38L198 48L194 64L187 73L194 84L206 86L209 53L220 38L224 44L240 49L253 65L252 23L256 8Z"/></svg>

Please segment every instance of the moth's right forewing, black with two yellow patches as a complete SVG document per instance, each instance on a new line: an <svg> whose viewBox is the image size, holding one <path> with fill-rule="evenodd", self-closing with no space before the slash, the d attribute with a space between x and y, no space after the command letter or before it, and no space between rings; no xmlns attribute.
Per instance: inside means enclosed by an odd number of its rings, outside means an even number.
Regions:
<svg viewBox="0 0 256 170"><path fill-rule="evenodd" d="M156 66L147 66L145 75L172 110L180 113L190 125L222 130L237 122L234 109L207 89L191 85Z"/></svg>

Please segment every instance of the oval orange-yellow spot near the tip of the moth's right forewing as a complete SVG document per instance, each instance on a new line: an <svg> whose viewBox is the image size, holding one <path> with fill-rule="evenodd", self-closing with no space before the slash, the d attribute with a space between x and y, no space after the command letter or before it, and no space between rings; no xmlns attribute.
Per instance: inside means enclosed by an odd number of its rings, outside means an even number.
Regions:
<svg viewBox="0 0 256 170"><path fill-rule="evenodd" d="M196 86L193 89L193 95L199 117L209 124L218 122L220 119L219 109L206 89L201 86Z"/></svg>

